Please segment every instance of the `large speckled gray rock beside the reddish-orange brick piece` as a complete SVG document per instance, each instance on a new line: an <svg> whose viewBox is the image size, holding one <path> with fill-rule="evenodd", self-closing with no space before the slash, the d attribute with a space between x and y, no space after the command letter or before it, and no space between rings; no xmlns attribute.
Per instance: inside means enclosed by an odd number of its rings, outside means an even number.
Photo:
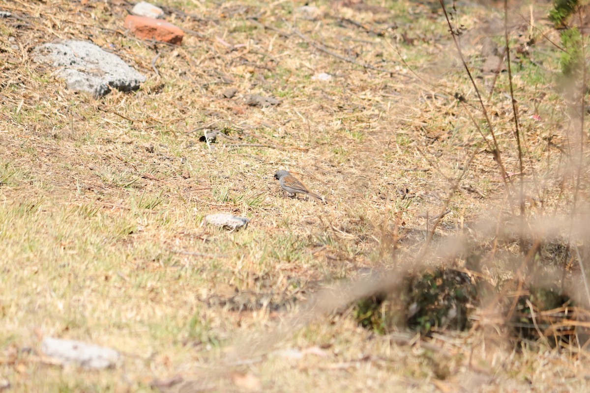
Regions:
<svg viewBox="0 0 590 393"><path fill-rule="evenodd" d="M51 42L35 48L33 60L61 67L58 75L67 87L96 96L105 95L111 88L132 91L146 78L129 67L120 57L103 51L86 41Z"/></svg>

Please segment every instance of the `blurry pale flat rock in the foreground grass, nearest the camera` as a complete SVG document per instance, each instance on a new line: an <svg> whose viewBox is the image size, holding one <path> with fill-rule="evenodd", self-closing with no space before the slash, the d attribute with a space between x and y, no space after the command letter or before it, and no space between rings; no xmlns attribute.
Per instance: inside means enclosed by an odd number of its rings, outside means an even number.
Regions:
<svg viewBox="0 0 590 393"><path fill-rule="evenodd" d="M121 358L114 349L53 337L43 339L41 351L59 359L63 364L76 363L85 368L107 368L115 365Z"/></svg>

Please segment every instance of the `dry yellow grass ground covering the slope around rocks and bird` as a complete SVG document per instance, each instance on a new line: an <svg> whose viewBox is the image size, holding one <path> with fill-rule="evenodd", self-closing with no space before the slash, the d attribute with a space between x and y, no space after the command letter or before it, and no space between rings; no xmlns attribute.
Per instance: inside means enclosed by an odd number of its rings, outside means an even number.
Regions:
<svg viewBox="0 0 590 393"><path fill-rule="evenodd" d="M14 391L149 391L176 375L173 391L588 388L584 340L519 346L499 306L531 283L588 300L586 155L578 186L582 126L555 90L548 8L514 6L510 20L512 46L526 49L513 64L531 219L522 226L507 77L479 71L484 39L502 42L501 9L462 4L458 23L507 187L437 2L369 3L322 2L307 20L293 2L165 2L188 32L182 47L124 31L124 0L0 6L13 13L0 19L0 377ZM525 48L530 33L537 42ZM65 90L30 52L68 38L112 50L148 81L100 99ZM332 81L314 80L319 72ZM248 94L281 103L248 107ZM224 135L207 146L204 128L191 132L205 126ZM280 169L329 203L284 196ZM215 212L251 223L203 226ZM563 256L568 244L585 259ZM477 270L494 288L470 331L358 325L353 300L399 290L428 266ZM385 273L366 278L369 269ZM50 365L41 335L109 346L123 364ZM311 350L277 352L289 348Z"/></svg>

